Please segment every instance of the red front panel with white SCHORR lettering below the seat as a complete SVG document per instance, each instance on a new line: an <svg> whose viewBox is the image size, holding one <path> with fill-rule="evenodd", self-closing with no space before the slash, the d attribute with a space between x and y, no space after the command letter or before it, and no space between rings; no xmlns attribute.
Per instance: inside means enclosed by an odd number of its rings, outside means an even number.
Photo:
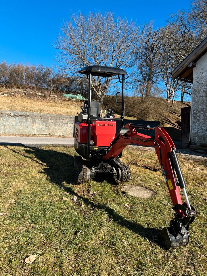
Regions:
<svg viewBox="0 0 207 276"><path fill-rule="evenodd" d="M97 147L109 146L116 134L116 122L92 121L93 141Z"/></svg>

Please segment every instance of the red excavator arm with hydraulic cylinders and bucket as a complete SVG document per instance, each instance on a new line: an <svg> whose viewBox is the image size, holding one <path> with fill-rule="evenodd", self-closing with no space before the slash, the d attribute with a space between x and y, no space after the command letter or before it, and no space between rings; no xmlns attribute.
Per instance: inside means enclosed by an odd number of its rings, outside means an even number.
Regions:
<svg viewBox="0 0 207 276"><path fill-rule="evenodd" d="M138 132L139 129L154 129L155 136L141 134ZM188 227L197 212L189 203L185 181L172 139L162 127L126 124L111 142L104 160L113 160L129 144L155 147L175 211L175 218L170 222L170 227L161 230L162 240L167 249L187 245L189 242ZM183 190L185 203L182 202L179 186Z"/></svg>

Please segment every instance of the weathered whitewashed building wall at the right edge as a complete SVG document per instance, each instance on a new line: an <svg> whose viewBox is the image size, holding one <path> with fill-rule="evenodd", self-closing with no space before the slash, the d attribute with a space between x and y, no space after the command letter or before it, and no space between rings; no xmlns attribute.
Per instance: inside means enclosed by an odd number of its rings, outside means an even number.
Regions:
<svg viewBox="0 0 207 276"><path fill-rule="evenodd" d="M207 143L207 53L193 68L191 143Z"/></svg>

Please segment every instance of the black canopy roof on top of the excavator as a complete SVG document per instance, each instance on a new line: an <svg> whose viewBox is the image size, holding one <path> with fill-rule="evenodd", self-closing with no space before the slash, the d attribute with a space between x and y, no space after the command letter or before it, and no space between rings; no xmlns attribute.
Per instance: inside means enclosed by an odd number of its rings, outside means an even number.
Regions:
<svg viewBox="0 0 207 276"><path fill-rule="evenodd" d="M79 73L85 74L86 71L91 71L91 75L93 76L103 76L103 77L111 77L120 75L127 75L127 72L121 68L109 67L109 66L99 66L99 65L91 65L82 68Z"/></svg>

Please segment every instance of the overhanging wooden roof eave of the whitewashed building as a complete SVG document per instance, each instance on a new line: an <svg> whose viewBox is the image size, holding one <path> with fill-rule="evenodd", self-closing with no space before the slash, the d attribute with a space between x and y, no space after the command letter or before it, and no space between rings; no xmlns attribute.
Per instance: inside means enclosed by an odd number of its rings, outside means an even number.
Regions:
<svg viewBox="0 0 207 276"><path fill-rule="evenodd" d="M172 78L193 83L193 67L207 53L207 38L204 39L172 72Z"/></svg>

